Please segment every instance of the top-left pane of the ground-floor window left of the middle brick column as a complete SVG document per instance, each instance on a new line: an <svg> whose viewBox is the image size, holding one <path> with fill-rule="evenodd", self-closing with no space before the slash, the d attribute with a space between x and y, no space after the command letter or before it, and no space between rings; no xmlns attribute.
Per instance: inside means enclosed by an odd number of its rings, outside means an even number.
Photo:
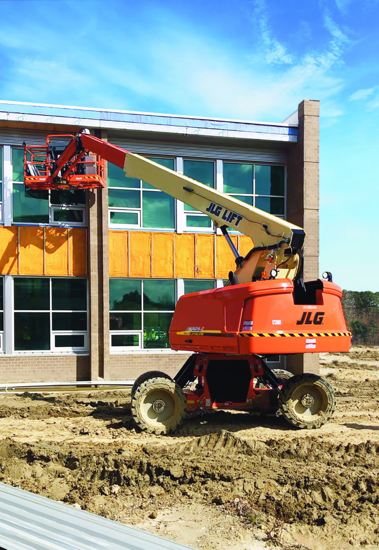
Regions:
<svg viewBox="0 0 379 550"><path fill-rule="evenodd" d="M15 310L50 309L50 279L15 277L13 281Z"/></svg>

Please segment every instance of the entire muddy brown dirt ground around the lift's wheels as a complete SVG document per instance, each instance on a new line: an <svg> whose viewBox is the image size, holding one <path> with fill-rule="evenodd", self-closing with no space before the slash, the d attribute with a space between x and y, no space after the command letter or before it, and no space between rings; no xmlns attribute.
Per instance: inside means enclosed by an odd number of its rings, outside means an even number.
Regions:
<svg viewBox="0 0 379 550"><path fill-rule="evenodd" d="M0 481L199 550L379 548L379 349L322 354L333 419L216 411L136 430L130 389L0 394Z"/></svg>

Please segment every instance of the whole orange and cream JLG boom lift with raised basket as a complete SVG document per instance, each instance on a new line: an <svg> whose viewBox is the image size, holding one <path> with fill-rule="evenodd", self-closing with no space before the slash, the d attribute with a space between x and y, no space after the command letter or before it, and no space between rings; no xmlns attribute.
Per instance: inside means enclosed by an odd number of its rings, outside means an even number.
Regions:
<svg viewBox="0 0 379 550"><path fill-rule="evenodd" d="M94 138L88 130L48 136L45 146L25 146L25 184L31 189L103 188L105 160L210 216L237 266L224 288L179 298L169 340L173 350L191 355L174 378L152 371L136 379L131 399L136 424L168 433L186 410L198 409L280 409L302 428L327 422L336 404L325 379L276 373L265 361L272 354L350 348L340 288L328 273L327 281L303 281L304 229ZM252 239L245 257L234 248L227 228Z"/></svg>

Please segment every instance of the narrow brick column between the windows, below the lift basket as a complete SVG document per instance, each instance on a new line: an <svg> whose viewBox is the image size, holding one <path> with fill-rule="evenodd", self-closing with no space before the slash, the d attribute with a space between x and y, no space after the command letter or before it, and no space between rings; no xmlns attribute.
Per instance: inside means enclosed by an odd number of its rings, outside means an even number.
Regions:
<svg viewBox="0 0 379 550"><path fill-rule="evenodd" d="M106 130L95 130L107 138ZM92 380L105 378L109 361L108 193L87 192L89 259L89 346Z"/></svg>

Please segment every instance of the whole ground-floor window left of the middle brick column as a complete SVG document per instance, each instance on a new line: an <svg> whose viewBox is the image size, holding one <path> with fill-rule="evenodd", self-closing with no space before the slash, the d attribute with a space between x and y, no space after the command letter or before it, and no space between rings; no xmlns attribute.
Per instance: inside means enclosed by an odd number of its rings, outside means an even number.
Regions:
<svg viewBox="0 0 379 550"><path fill-rule="evenodd" d="M87 282L14 277L14 350L87 348Z"/></svg>

